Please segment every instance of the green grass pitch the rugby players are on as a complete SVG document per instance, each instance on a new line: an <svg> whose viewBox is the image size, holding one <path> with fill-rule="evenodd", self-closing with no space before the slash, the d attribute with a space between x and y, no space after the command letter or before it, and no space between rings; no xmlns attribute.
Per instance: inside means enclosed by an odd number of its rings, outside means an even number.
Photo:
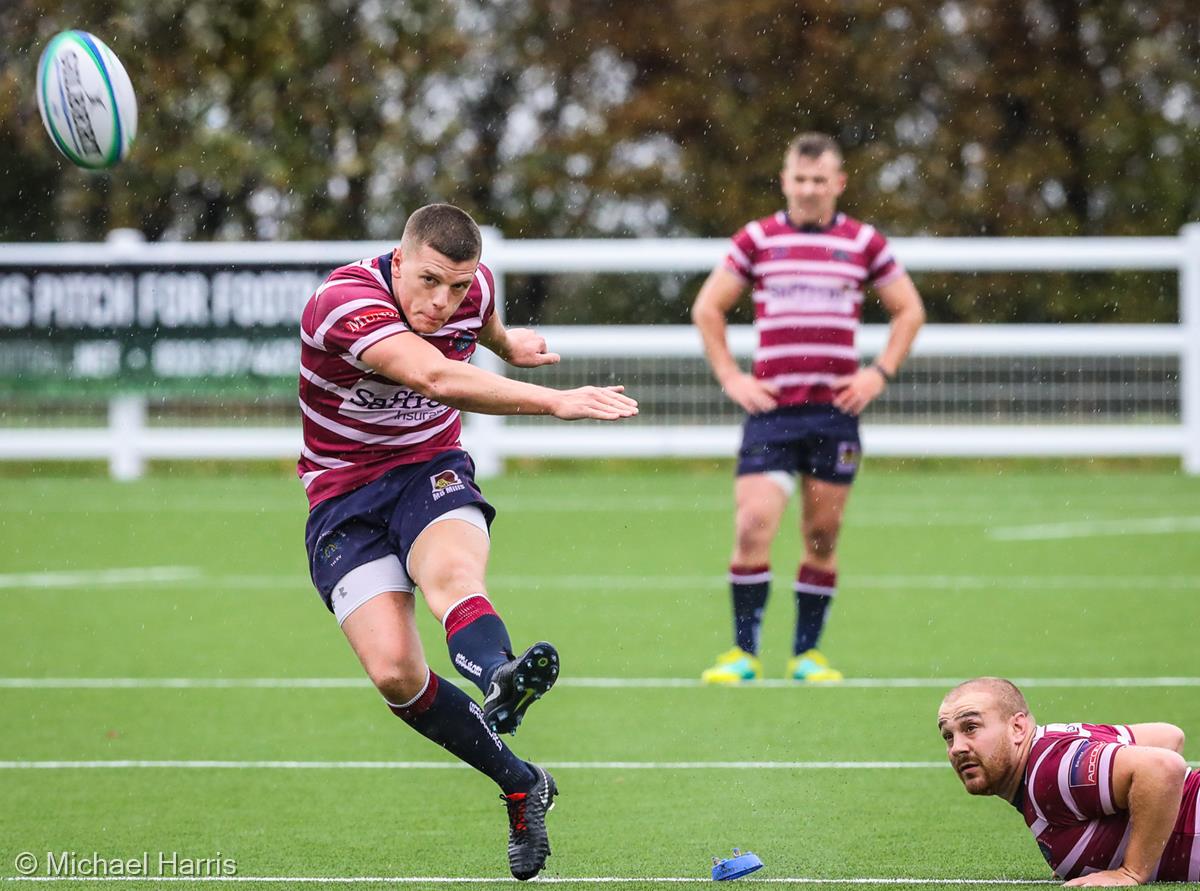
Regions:
<svg viewBox="0 0 1200 891"><path fill-rule="evenodd" d="M929 766L943 759L944 688L978 674L1037 681L1044 722L1172 720L1200 740L1200 687L1111 680L1200 675L1200 479L868 465L823 641L852 683L817 689L684 683L728 646L726 472L511 472L485 492L499 509L490 593L515 644L546 638L563 657L564 682L514 740L563 764L546 878L661 889L652 879L706 880L737 845L762 856L762 879L1046 879L1012 808ZM511 881L491 783L391 717L312 592L299 483L8 478L0 503L2 885L22 886L22 851L221 856L244 878ZM776 677L794 526L793 509L763 629ZM434 670L457 677L421 621ZM882 680L853 686L864 678Z"/></svg>

